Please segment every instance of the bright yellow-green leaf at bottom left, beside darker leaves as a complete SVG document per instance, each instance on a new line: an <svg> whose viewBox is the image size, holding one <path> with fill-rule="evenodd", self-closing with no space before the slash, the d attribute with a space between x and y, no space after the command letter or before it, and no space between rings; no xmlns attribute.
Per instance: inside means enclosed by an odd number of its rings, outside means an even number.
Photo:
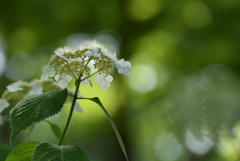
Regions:
<svg viewBox="0 0 240 161"><path fill-rule="evenodd" d="M34 149L39 142L30 141L18 145L9 154L6 161L31 161Z"/></svg>

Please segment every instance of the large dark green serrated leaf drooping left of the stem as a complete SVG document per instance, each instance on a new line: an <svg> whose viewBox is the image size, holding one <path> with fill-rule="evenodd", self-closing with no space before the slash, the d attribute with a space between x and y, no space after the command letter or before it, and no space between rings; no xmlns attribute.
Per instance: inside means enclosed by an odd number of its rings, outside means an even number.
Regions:
<svg viewBox="0 0 240 161"><path fill-rule="evenodd" d="M19 102L12 110L10 120L12 134L10 144L15 136L33 123L40 122L58 113L68 96L67 89L48 92Z"/></svg>

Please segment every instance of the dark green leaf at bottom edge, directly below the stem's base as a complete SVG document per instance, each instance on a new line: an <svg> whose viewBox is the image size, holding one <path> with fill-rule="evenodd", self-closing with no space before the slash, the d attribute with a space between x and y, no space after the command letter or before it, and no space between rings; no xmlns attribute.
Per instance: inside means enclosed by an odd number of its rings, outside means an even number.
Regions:
<svg viewBox="0 0 240 161"><path fill-rule="evenodd" d="M90 161L86 153L77 146L58 146L51 143L39 144L33 161Z"/></svg>

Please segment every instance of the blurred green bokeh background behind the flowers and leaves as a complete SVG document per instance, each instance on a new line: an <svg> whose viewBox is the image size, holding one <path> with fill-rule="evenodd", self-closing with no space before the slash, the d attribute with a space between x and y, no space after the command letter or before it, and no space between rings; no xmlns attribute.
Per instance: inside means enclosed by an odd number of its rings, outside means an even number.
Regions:
<svg viewBox="0 0 240 161"><path fill-rule="evenodd" d="M94 80L80 89L102 100L130 160L240 160L239 0L1 0L0 93L13 81L40 78L53 51L79 37L132 63L128 77L111 73L108 90ZM104 113L80 103L84 112L74 113L69 139L92 161L123 161ZM68 111L50 120L63 128ZM9 135L6 122L0 141ZM27 140L57 143L46 123Z"/></svg>

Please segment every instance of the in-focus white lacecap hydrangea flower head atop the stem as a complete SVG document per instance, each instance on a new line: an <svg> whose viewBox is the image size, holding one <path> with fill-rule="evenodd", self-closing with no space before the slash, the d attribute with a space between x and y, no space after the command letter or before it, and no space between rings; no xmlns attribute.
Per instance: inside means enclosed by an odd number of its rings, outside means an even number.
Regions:
<svg viewBox="0 0 240 161"><path fill-rule="evenodd" d="M89 78L98 73L99 76L95 80L100 83L101 87L107 89L113 80L108 73L114 66L118 69L118 73L130 75L131 63L129 61L118 60L115 54L109 53L96 42L77 49L59 48L54 53L48 65L43 67L41 79L54 77L61 88L65 88L72 77L78 79L79 76L81 76L80 85L88 83L91 85Z"/></svg>

